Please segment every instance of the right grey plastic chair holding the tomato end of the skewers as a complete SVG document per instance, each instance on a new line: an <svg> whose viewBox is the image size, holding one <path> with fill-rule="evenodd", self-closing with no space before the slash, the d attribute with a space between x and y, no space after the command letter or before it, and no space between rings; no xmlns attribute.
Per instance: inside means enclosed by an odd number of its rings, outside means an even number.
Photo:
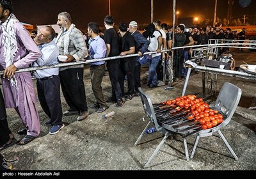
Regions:
<svg viewBox="0 0 256 179"><path fill-rule="evenodd" d="M218 132L221 139L227 145L228 150L230 150L234 158L238 160L236 153L232 150L232 148L228 144L227 140L221 133L220 128L225 127L231 120L233 114L236 111L237 105L239 104L241 95L242 95L242 90L240 88L238 88L234 84L231 84L230 82L225 82L225 84L222 86L220 90L220 93L214 105L214 108L216 108L218 111L220 111L220 113L223 114L223 116L225 116L225 118L223 118L224 121L220 125L214 128L200 130L199 132L197 132L196 141L195 141L190 159L193 158L193 155L195 153L196 146L198 144L200 137L212 136L214 132Z"/></svg>

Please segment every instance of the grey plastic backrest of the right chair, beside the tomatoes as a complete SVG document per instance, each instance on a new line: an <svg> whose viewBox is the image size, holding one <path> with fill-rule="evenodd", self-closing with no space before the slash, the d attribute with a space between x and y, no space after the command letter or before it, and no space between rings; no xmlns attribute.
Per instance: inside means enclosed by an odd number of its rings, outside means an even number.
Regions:
<svg viewBox="0 0 256 179"><path fill-rule="evenodd" d="M214 107L225 116L225 120L221 123L220 127L224 127L231 120L239 104L241 95L242 90L234 84L230 82L223 84L214 105Z"/></svg>

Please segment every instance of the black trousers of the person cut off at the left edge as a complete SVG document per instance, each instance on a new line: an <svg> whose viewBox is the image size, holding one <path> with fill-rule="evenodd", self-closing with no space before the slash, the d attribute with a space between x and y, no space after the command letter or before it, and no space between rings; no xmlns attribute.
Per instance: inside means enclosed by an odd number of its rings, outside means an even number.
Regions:
<svg viewBox="0 0 256 179"><path fill-rule="evenodd" d="M6 109L4 104L4 98L2 91L0 89L0 146L7 143L10 139L9 134L12 134L8 127L8 122L6 119Z"/></svg>

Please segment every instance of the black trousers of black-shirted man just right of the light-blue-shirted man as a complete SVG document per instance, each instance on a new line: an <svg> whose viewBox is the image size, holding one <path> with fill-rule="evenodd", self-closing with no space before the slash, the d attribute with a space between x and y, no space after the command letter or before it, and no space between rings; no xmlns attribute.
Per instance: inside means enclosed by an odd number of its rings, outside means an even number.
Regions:
<svg viewBox="0 0 256 179"><path fill-rule="evenodd" d="M118 81L118 75L120 70L120 59L111 59L107 61L109 79L112 86L112 97L122 99L122 91Z"/></svg>

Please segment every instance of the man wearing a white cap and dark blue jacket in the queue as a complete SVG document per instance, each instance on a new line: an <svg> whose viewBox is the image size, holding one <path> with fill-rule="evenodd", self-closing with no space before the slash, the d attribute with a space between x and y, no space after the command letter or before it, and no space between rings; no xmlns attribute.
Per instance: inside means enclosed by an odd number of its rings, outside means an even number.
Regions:
<svg viewBox="0 0 256 179"><path fill-rule="evenodd" d="M143 55L147 51L149 41L145 38L140 31L138 31L138 24L136 21L131 21L129 24L129 31L131 32L132 36L134 36L135 40L135 53L138 53L136 57L136 64L134 68L134 90L135 95L134 97L140 96L139 87L141 87L141 79L140 79L140 63L138 63L138 58Z"/></svg>

